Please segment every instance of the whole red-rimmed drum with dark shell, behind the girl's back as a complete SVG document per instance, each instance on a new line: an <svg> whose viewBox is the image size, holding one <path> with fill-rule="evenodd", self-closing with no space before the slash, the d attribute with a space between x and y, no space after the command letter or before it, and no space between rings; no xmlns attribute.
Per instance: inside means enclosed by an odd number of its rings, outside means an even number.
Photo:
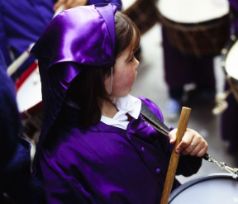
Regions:
<svg viewBox="0 0 238 204"><path fill-rule="evenodd" d="M42 120L42 95L38 65L33 63L16 81L17 104L24 135L37 140ZM36 142L36 141L35 141Z"/></svg>

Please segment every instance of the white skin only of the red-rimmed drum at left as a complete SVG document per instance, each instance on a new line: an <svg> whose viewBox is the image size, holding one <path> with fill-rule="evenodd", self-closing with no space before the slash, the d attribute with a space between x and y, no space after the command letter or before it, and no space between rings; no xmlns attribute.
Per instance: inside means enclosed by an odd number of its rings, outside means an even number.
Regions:
<svg viewBox="0 0 238 204"><path fill-rule="evenodd" d="M35 69L17 91L17 105L22 113L42 101L39 69Z"/></svg>

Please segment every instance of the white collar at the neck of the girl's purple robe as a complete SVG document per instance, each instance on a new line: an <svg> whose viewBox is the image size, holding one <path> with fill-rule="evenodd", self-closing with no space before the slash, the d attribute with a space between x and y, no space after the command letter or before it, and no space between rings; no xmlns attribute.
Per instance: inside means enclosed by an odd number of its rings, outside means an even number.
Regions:
<svg viewBox="0 0 238 204"><path fill-rule="evenodd" d="M137 119L141 111L141 100L132 95L127 95L118 98L115 101L115 105L118 112L113 116L113 118L102 115L101 121L107 125L126 130L129 123L126 114L129 114L134 119Z"/></svg>

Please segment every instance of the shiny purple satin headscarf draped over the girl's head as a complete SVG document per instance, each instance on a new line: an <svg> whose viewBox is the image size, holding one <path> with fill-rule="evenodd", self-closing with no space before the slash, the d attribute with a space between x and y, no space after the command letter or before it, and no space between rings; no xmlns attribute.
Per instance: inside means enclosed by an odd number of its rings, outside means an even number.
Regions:
<svg viewBox="0 0 238 204"><path fill-rule="evenodd" d="M52 20L32 48L39 60L43 104L47 112L43 137L57 118L69 85L80 73L80 65L89 69L113 66L116 10L111 4L66 10Z"/></svg>

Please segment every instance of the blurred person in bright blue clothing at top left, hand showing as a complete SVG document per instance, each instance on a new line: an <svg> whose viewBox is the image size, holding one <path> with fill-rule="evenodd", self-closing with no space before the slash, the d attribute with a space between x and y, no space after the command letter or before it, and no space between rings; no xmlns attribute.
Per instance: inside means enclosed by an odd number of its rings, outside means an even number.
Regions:
<svg viewBox="0 0 238 204"><path fill-rule="evenodd" d="M120 0L0 0L0 50L9 66L37 41L54 13L85 4L117 3ZM119 3L118 3L119 2ZM29 57L12 78L17 79L35 59Z"/></svg>

